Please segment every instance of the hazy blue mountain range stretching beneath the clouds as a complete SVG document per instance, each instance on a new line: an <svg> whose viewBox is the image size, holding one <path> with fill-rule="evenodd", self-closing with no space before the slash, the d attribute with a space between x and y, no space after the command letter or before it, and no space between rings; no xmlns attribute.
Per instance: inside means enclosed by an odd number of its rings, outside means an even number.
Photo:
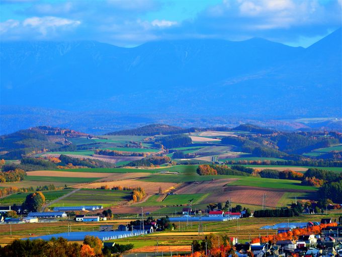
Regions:
<svg viewBox="0 0 342 257"><path fill-rule="evenodd" d="M125 113L341 116L341 29L308 48L261 38L122 48L2 42L1 104Z"/></svg>

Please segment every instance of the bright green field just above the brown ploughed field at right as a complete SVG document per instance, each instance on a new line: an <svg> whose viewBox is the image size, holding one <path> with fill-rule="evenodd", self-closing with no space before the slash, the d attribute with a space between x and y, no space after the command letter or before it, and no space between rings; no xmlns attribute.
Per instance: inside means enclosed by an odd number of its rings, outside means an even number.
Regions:
<svg viewBox="0 0 342 257"><path fill-rule="evenodd" d="M229 176L238 178L237 180L229 182L226 186L230 185L247 185L265 188L284 188L284 189L301 189L301 190L317 190L317 187L301 185L301 181L290 179L275 179L275 178L262 178L262 177L241 177Z"/></svg>

